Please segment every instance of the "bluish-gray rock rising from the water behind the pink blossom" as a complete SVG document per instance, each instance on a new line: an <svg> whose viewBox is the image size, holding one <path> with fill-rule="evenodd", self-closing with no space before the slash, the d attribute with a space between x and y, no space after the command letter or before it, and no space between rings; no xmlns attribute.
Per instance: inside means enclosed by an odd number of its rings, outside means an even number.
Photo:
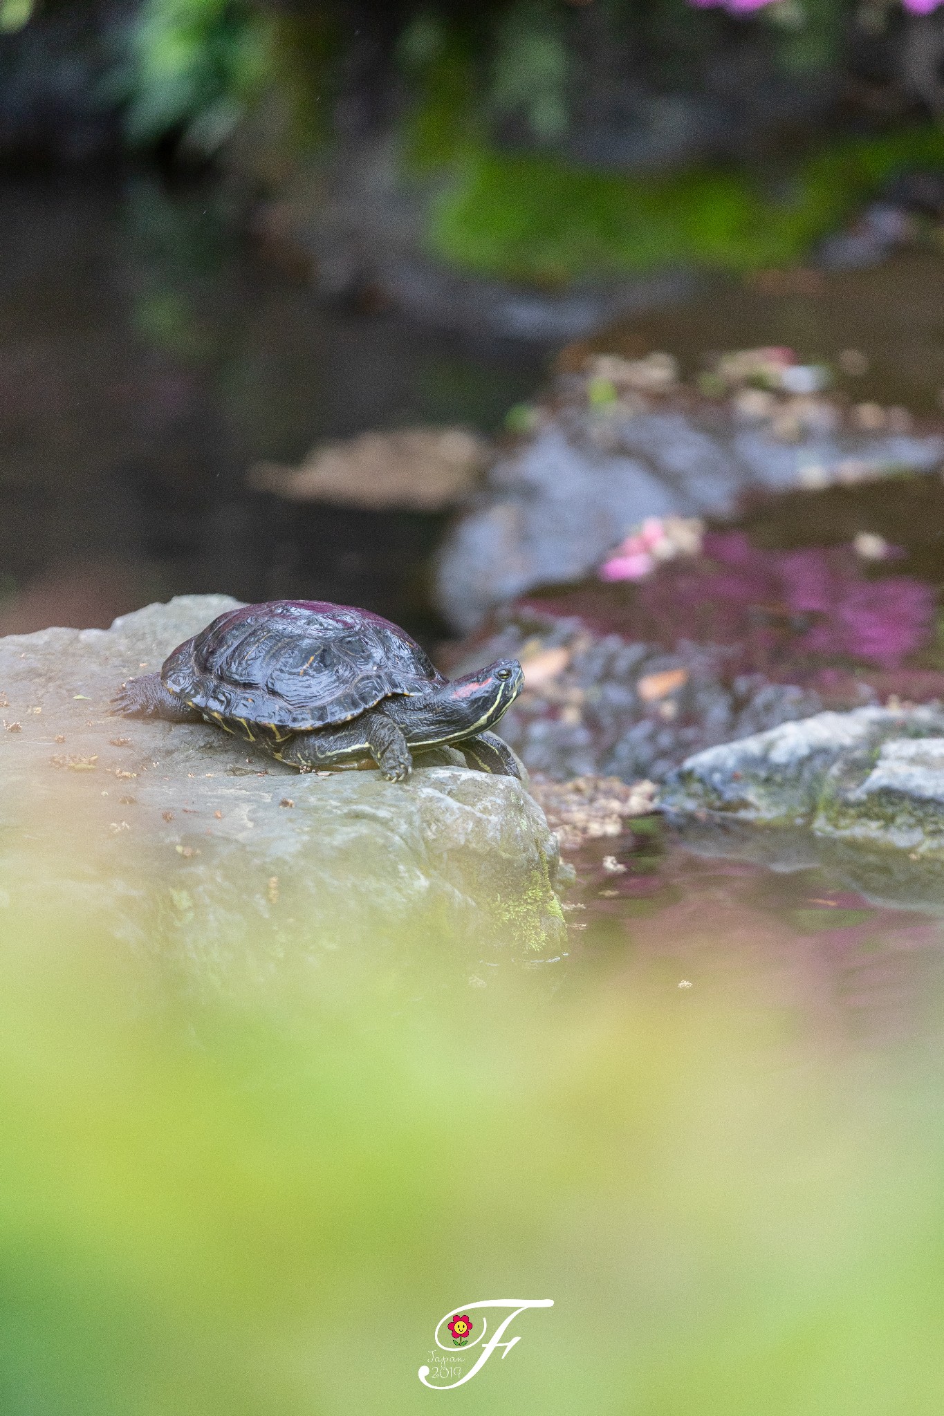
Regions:
<svg viewBox="0 0 944 1416"><path fill-rule="evenodd" d="M447 537L437 602L468 633L488 612L536 585L592 573L631 527L651 515L732 515L750 491L801 484L804 469L927 472L944 439L819 432L781 442L719 409L635 415L565 409L488 476L488 490Z"/></svg>

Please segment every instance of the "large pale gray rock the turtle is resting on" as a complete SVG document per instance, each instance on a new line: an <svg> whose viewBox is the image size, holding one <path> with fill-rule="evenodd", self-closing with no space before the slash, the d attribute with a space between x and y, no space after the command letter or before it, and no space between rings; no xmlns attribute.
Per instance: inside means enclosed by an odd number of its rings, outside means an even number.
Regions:
<svg viewBox="0 0 944 1416"><path fill-rule="evenodd" d="M212 726L109 715L123 678L235 603L0 640L0 905L79 910L205 977L391 943L559 943L556 838L519 782L449 749L405 784L301 776Z"/></svg>

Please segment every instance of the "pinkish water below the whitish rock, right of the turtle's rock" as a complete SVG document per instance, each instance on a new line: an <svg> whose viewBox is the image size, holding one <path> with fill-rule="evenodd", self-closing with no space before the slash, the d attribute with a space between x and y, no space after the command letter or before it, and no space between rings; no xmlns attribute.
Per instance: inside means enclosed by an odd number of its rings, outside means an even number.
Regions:
<svg viewBox="0 0 944 1416"><path fill-rule="evenodd" d="M894 908L828 865L771 871L635 824L577 857L565 906L572 970L650 1001L677 990L682 1003L698 993L699 1007L726 1007L749 994L821 1041L940 1034L944 908Z"/></svg>

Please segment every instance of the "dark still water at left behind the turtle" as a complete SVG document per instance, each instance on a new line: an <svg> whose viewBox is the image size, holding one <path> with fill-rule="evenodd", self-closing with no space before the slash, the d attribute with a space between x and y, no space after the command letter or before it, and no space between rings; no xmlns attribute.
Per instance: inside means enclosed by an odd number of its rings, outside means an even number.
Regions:
<svg viewBox="0 0 944 1416"><path fill-rule="evenodd" d="M108 624L175 593L352 600L425 637L434 517L284 507L256 460L323 438L491 430L543 351L326 309L249 249L214 188L0 194L0 633Z"/></svg>

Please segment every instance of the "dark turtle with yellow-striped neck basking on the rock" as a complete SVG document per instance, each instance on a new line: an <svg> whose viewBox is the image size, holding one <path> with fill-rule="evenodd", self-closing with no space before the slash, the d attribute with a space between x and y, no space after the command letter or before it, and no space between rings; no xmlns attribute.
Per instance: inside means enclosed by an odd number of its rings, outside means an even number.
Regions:
<svg viewBox="0 0 944 1416"><path fill-rule="evenodd" d="M515 658L450 681L405 630L371 610L269 600L219 615L160 673L122 684L112 711L217 724L300 772L375 763L389 782L403 782L410 749L454 743L470 767L521 777L490 728L522 683Z"/></svg>

